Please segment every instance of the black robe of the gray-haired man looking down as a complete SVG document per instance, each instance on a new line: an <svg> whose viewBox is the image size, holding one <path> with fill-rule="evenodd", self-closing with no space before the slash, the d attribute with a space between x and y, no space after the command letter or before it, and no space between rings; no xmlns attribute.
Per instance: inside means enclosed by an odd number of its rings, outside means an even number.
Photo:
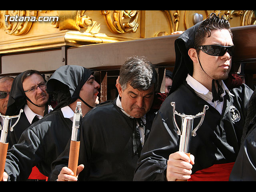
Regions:
<svg viewBox="0 0 256 192"><path fill-rule="evenodd" d="M154 112L146 114L146 135L149 134ZM84 164L79 181L132 181L138 161L134 153L133 133L136 121L124 114L116 99L92 109L83 118L78 164ZM141 143L140 143L141 145ZM56 180L68 164L69 146L52 164L51 180Z"/></svg>

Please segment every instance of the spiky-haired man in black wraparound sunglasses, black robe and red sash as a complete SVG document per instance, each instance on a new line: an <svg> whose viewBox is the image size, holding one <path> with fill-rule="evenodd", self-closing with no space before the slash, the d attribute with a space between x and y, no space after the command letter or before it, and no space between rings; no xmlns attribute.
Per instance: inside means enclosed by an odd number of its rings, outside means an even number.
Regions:
<svg viewBox="0 0 256 192"><path fill-rule="evenodd" d="M229 22L211 14L177 38L175 51L172 88L154 119L134 180L228 181L252 95L245 84L228 89L223 82L234 54ZM193 116L208 105L196 136L191 136L190 156L179 151L171 102L179 114ZM181 118L175 117L182 128ZM199 121L194 118L193 130Z"/></svg>

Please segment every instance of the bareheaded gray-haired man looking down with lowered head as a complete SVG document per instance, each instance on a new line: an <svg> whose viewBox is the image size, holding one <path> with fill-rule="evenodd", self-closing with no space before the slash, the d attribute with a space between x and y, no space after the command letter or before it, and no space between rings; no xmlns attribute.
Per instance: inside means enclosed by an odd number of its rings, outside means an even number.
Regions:
<svg viewBox="0 0 256 192"><path fill-rule="evenodd" d="M83 118L77 173L66 167L67 145L52 164L51 180L132 181L155 116L150 108L156 86L152 63L144 57L128 58L116 83L118 97L98 105Z"/></svg>

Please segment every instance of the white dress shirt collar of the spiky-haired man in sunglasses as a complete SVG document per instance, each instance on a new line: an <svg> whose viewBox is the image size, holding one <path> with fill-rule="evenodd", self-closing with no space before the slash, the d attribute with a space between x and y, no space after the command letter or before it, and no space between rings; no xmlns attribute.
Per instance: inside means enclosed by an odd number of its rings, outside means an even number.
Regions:
<svg viewBox="0 0 256 192"><path fill-rule="evenodd" d="M212 102L212 92L210 92L205 86L203 86L200 82L198 82L197 80L195 80L192 76L190 76L190 74L188 74L187 78L186 78L186 82L188 83L188 85L190 87L192 87L196 94L202 98L203 100L205 100L206 102L208 102L211 106L213 106L216 110L218 110L218 112L220 114L222 114L222 109L223 109L223 104L224 104L224 100L222 102L219 101L214 101ZM222 93L222 98L224 98L224 96L226 95L226 92L228 92L228 94L234 96L232 93L229 92L228 88L226 87L226 85L224 84L224 82L221 80L221 86L224 90L224 93Z"/></svg>

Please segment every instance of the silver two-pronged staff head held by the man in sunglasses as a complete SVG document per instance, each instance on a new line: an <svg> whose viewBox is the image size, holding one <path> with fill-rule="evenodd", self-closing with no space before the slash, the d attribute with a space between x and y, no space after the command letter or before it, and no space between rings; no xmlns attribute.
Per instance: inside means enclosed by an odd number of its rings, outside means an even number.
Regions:
<svg viewBox="0 0 256 192"><path fill-rule="evenodd" d="M200 112L200 113L196 114L195 116L192 116L192 115L179 114L178 112L176 112L175 111L175 102L171 102L171 106L173 108L174 124L176 125L176 127L178 129L177 134L180 135L179 151L182 151L182 152L186 153L190 157L190 153L188 151L189 151L191 136L196 136L196 131L202 125L202 122L203 122L204 116L205 116L205 111L209 107L207 105L205 105L204 109L203 109L203 112ZM181 130L178 127L178 124L176 122L175 114L182 117ZM198 123L196 128L192 131L194 118L198 118L198 117L201 117L200 122ZM186 181L186 180L178 180L177 179L176 181Z"/></svg>

